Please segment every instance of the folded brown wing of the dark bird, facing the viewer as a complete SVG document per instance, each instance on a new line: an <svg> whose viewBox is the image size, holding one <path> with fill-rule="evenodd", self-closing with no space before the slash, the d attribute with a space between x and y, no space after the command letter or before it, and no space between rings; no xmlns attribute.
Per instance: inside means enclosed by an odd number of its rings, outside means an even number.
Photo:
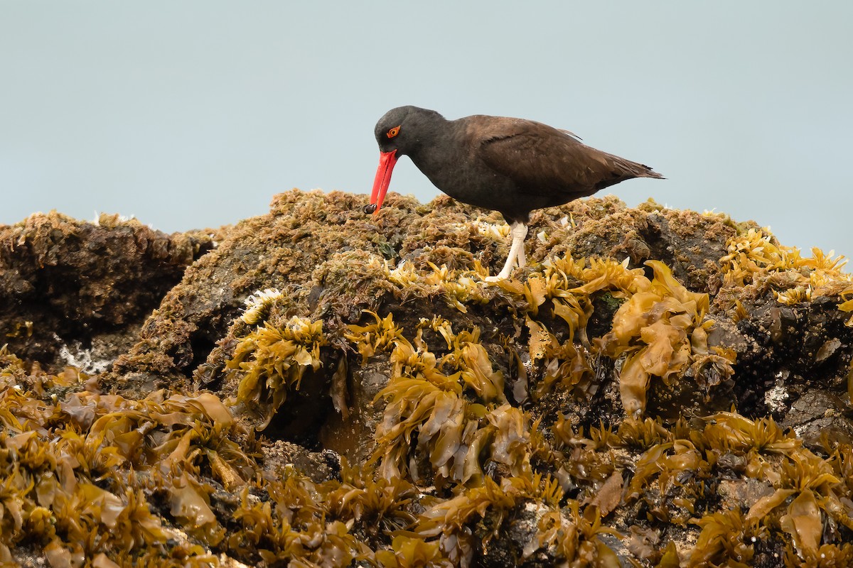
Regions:
<svg viewBox="0 0 853 568"><path fill-rule="evenodd" d="M479 119L479 117L472 117ZM479 157L533 195L590 195L639 175L644 166L601 152L564 130L520 118L479 121Z"/></svg>

